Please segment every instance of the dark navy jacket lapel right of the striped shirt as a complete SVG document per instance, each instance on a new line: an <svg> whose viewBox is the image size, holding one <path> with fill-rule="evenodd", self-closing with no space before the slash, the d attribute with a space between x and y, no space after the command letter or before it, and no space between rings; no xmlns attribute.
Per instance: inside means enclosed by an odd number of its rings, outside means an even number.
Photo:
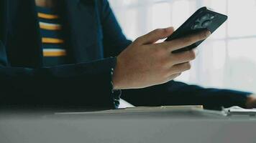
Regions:
<svg viewBox="0 0 256 143"><path fill-rule="evenodd" d="M93 0L64 0L66 29L68 29L69 44L76 62L96 59L93 56L97 39L97 16Z"/></svg>

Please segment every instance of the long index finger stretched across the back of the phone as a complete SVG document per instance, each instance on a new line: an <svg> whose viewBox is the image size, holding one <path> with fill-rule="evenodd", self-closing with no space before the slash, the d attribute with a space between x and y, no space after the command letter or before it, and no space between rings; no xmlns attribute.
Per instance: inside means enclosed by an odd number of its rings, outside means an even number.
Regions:
<svg viewBox="0 0 256 143"><path fill-rule="evenodd" d="M201 31L197 34L192 34L185 36L180 39L174 39L172 41L164 41L162 43L155 44L157 48L164 48L168 51L175 51L177 49L182 49L183 47L190 46L196 41L201 41L206 39L211 34L210 31Z"/></svg>

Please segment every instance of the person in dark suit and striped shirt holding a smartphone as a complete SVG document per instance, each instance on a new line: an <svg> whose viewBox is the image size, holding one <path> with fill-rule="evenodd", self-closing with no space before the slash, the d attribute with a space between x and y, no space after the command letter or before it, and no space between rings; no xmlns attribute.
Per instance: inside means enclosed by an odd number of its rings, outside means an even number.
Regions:
<svg viewBox="0 0 256 143"><path fill-rule="evenodd" d="M0 0L0 106L117 108L202 104L256 107L248 92L174 82L194 51L171 51L206 39L203 31L155 44L157 29L133 43L106 0Z"/></svg>

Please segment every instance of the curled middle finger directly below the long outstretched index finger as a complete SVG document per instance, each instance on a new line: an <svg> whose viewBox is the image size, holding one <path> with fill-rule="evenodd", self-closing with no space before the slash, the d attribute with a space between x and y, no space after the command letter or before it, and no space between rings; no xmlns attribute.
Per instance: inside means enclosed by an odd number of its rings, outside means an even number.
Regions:
<svg viewBox="0 0 256 143"><path fill-rule="evenodd" d="M170 63L181 64L192 61L193 59L196 59L196 52L194 50L183 51L181 53L171 54Z"/></svg>

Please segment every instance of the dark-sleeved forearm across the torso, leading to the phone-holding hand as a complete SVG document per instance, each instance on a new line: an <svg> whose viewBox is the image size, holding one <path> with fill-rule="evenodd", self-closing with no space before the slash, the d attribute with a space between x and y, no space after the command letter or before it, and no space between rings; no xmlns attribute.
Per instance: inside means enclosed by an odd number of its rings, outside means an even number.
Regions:
<svg viewBox="0 0 256 143"><path fill-rule="evenodd" d="M112 62L104 59L40 69L1 67L0 106L114 108Z"/></svg>

